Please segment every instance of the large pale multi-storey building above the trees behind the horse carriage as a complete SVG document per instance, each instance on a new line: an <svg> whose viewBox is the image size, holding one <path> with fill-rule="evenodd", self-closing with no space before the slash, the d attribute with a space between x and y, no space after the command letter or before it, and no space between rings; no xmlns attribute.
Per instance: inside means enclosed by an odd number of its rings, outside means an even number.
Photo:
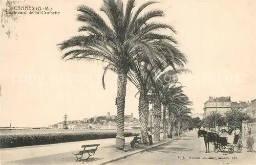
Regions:
<svg viewBox="0 0 256 165"><path fill-rule="evenodd" d="M209 99L204 103L204 113L203 118L206 117L210 112L216 111L225 114L231 107L241 107L243 111L246 111L246 102L232 102L231 97L220 97L213 98L209 96Z"/></svg>

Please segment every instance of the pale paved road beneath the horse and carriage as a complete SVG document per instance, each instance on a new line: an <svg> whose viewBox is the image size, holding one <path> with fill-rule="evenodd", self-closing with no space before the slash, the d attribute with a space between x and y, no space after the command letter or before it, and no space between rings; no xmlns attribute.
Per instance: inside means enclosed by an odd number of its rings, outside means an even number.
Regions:
<svg viewBox="0 0 256 165"><path fill-rule="evenodd" d="M191 131L186 132L185 137L174 140L166 146L111 164L256 164L255 156L255 153L246 152L245 148L241 153L228 154L227 151L216 153L211 145L210 153L205 153L203 137L198 138L197 132Z"/></svg>

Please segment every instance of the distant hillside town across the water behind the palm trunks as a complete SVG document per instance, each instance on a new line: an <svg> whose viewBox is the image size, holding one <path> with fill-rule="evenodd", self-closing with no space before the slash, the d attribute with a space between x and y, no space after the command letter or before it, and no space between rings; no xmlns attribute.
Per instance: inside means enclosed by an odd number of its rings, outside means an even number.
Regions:
<svg viewBox="0 0 256 165"><path fill-rule="evenodd" d="M57 124L49 126L49 128L58 129L117 129L117 115L110 115L107 112L106 116L93 116L82 120L68 121L68 115L64 115L64 120ZM124 129L140 128L139 120L131 115L124 115Z"/></svg>

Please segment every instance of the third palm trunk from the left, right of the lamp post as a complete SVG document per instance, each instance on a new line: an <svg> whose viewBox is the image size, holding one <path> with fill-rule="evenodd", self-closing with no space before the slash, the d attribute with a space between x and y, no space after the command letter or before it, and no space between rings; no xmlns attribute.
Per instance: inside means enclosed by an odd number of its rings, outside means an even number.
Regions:
<svg viewBox="0 0 256 165"><path fill-rule="evenodd" d="M154 116L154 140L156 142L160 142L160 125L161 125L161 103L156 102L154 103L154 110L153 110L153 116Z"/></svg>

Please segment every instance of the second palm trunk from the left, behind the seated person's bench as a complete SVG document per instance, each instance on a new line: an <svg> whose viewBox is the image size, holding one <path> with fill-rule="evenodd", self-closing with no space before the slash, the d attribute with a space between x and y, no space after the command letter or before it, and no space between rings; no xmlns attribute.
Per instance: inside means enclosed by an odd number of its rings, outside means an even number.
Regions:
<svg viewBox="0 0 256 165"><path fill-rule="evenodd" d="M143 96L143 93L140 93L139 98L139 117L140 117L140 132L142 143L147 145L147 125L148 125L148 108L149 103L146 96Z"/></svg>

